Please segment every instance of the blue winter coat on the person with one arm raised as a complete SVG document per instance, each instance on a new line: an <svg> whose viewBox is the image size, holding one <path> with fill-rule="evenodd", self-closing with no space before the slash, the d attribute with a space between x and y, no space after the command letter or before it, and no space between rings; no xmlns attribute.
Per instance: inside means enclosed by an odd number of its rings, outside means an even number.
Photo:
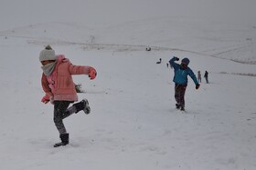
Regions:
<svg viewBox="0 0 256 170"><path fill-rule="evenodd" d="M170 61L170 65L174 67L175 76L173 82L178 85L187 85L187 75L189 75L194 81L195 85L198 85L197 76L193 73L193 71L187 67L187 69L182 69L181 65L176 64L176 57L174 56Z"/></svg>

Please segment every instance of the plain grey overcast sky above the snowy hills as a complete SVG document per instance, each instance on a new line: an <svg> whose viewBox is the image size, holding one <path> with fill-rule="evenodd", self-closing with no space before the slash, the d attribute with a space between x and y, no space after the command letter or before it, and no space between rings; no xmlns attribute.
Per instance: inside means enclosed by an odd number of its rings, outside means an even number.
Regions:
<svg viewBox="0 0 256 170"><path fill-rule="evenodd" d="M118 24L185 16L256 25L256 0L0 0L0 30L45 22Z"/></svg>

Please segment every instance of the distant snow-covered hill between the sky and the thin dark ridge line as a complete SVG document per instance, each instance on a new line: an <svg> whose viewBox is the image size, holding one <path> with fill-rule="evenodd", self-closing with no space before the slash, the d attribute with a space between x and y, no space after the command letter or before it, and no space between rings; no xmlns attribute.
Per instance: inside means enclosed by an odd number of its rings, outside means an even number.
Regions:
<svg viewBox="0 0 256 170"><path fill-rule="evenodd" d="M187 29L189 28L189 29ZM152 18L122 25L89 28L77 23L27 25L0 32L4 37L27 38L37 45L83 45L85 48L128 50L153 46L256 64L256 27L205 20ZM117 47L118 46L118 47Z"/></svg>

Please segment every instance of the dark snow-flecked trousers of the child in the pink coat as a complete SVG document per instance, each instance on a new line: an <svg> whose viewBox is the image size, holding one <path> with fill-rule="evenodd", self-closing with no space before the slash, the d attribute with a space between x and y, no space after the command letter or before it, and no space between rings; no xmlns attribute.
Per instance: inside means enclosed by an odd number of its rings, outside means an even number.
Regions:
<svg viewBox="0 0 256 170"><path fill-rule="evenodd" d="M55 101L54 102L53 121L54 121L60 135L67 134L65 125L63 124L63 119L74 113L74 111L72 111L71 107L68 109L70 103L73 103L73 102L69 102L69 101Z"/></svg>

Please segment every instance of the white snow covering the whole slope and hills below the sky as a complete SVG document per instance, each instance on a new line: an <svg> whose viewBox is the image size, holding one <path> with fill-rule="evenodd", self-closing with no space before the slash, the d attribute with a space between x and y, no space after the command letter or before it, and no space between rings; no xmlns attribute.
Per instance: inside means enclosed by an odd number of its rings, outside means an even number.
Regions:
<svg viewBox="0 0 256 170"><path fill-rule="evenodd" d="M164 18L0 31L0 169L256 169L255 26ZM38 54L48 44L98 71L93 81L74 77L91 115L65 120L70 145L59 148L53 106L40 103ZM175 108L165 65L173 55L209 72L199 90L189 80L186 113Z"/></svg>

